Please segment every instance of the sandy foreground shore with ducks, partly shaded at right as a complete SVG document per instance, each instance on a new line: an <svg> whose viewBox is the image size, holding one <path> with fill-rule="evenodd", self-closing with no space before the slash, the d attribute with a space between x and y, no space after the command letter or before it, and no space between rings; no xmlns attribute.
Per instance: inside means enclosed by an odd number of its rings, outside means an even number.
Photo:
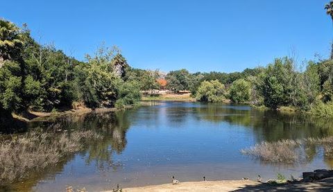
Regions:
<svg viewBox="0 0 333 192"><path fill-rule="evenodd" d="M292 184L272 185L253 181L207 181L181 182L180 184L160 184L123 189L126 192L171 192L171 191L333 191L333 178L320 182L296 182ZM105 191L105 192L112 192Z"/></svg>

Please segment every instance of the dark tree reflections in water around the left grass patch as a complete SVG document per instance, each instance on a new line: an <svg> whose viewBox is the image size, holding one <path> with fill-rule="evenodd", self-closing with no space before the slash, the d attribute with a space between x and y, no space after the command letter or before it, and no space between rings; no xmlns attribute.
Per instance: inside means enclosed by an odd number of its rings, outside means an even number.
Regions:
<svg viewBox="0 0 333 192"><path fill-rule="evenodd" d="M126 131L130 128L127 112L103 112L62 116L58 118L40 119L28 124L29 130L45 132L71 132L92 130L104 137L99 141L89 141L84 150L76 155L85 157L87 164L94 164L99 171L112 168L117 170L121 163L112 161L112 153L121 152L126 148ZM68 155L58 164L47 167L30 177L13 184L0 185L0 191L31 191L33 186L44 179L54 180L57 173L62 173L65 165L74 159L75 155Z"/></svg>

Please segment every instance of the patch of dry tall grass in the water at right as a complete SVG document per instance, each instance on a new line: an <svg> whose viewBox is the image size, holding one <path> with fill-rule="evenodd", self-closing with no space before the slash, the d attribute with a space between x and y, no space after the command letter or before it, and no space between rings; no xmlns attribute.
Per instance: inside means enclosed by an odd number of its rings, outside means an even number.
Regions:
<svg viewBox="0 0 333 192"><path fill-rule="evenodd" d="M275 142L263 141L253 147L242 149L241 153L260 159L263 162L292 164L306 159L306 146L309 145L323 146L324 155L333 157L333 137L284 139Z"/></svg>

